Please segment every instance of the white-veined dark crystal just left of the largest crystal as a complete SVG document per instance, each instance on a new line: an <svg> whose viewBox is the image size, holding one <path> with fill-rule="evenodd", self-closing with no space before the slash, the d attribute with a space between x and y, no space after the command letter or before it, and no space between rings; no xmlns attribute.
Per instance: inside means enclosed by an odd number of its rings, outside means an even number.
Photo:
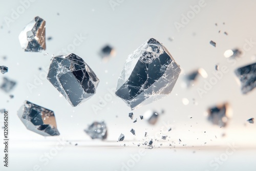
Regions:
<svg viewBox="0 0 256 171"><path fill-rule="evenodd" d="M72 106L94 95L99 83L87 63L73 53L53 57L47 79Z"/></svg>

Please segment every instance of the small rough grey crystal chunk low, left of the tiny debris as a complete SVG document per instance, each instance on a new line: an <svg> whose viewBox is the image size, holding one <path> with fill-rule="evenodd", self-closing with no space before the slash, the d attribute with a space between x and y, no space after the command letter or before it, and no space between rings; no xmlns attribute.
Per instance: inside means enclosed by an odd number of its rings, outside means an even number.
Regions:
<svg viewBox="0 0 256 171"><path fill-rule="evenodd" d="M93 122L88 126L86 130L84 130L92 139L106 139L108 133L106 129L106 124L104 121L101 122Z"/></svg>

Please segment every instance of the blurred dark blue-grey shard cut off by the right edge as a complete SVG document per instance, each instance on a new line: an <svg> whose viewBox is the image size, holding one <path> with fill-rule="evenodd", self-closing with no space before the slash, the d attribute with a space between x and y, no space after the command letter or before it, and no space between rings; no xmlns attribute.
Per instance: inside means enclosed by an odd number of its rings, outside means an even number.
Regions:
<svg viewBox="0 0 256 171"><path fill-rule="evenodd" d="M256 63L238 68L234 73L236 73L241 82L243 94L250 92L256 87Z"/></svg>

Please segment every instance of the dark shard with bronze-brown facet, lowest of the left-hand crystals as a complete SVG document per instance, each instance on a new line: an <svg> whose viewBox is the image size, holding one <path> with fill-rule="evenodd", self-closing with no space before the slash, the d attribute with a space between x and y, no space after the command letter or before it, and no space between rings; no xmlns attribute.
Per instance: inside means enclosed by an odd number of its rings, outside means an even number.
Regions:
<svg viewBox="0 0 256 171"><path fill-rule="evenodd" d="M57 124L53 111L25 101L18 111L18 117L28 130L43 136L57 136Z"/></svg>

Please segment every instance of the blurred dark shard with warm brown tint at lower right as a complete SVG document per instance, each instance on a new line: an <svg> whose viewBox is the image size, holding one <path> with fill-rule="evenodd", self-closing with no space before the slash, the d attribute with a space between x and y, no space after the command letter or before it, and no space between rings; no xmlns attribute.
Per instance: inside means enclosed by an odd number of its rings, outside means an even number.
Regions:
<svg viewBox="0 0 256 171"><path fill-rule="evenodd" d="M225 127L231 117L231 109L228 103L223 103L208 109L208 120L212 124Z"/></svg>

